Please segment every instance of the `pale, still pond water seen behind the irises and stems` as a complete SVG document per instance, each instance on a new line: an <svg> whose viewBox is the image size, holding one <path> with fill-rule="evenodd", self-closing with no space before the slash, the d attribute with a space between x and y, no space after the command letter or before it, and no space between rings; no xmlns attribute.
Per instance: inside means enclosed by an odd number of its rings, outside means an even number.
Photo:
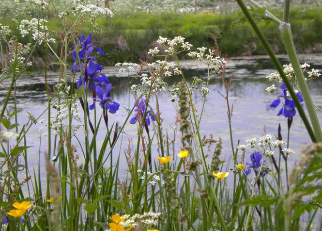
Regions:
<svg viewBox="0 0 322 231"><path fill-rule="evenodd" d="M288 63L286 56L279 56L279 59L283 63ZM322 55L301 55L300 62L307 62L311 64L310 68L322 69ZM205 66L200 65L197 61L182 61L182 68L188 82L192 82L194 77L206 78L207 70ZM123 124L124 119L127 116L125 108L128 107L128 91L127 85L129 78L126 77L127 73L119 73L117 67L106 67L105 73L108 76L109 81L113 85L112 95L115 101L121 104L120 110L115 114L109 114L109 124L114 121L118 121L119 124ZM274 72L275 68L270 59L266 56L254 56L254 57L240 57L232 58L228 60L228 66L226 71L226 77L233 75L233 82L230 87L230 105L233 105L233 117L232 117L232 132L234 146L236 147L237 141L241 140L242 144L245 144L245 140L253 137L260 137L264 132L270 134L276 134L278 125L281 124L281 131L283 138L287 137L287 118L284 116L276 116L279 108L271 109L268 105L276 99L276 94L269 94L264 89L270 85L269 81L265 79L265 76ZM126 76L124 76L126 75ZM180 77L169 78L167 82L169 86L180 81ZM55 85L58 82L58 73L48 73L49 84ZM308 82L309 89L312 94L313 101L322 107L322 78L320 80ZM201 87L200 87L201 88ZM27 112L31 113L35 117L39 116L46 109L46 90L44 84L44 77L42 73L33 73L32 75L21 76L16 86L16 98L17 109L22 109L23 112L18 118L18 123L22 124L28 121ZM229 125L227 118L227 105L225 99L223 99L219 93L225 92L225 88L219 77L214 78L209 86L211 90L207 96L206 106L200 124L201 135L210 134L214 135L214 139L219 136L223 140L222 159L229 160L231 158L230 137L229 137ZM0 89L0 101L3 104L4 97L7 90ZM169 94L163 92L159 94L159 105L161 110L161 117L163 118L164 132L168 130L169 136L173 139L173 127L175 125L175 110L172 102L170 101ZM202 94L200 89L197 89L193 93L193 100L197 102L201 99ZM90 99L91 100L91 99ZM91 101L90 101L91 102ZM130 106L134 105L135 100L131 97ZM155 105L155 100L152 99L152 107ZM202 102L196 104L198 112L200 111ZM13 101L9 101L9 109L13 108ZM98 107L97 107L98 108ZM101 113L101 109L98 108L97 113ZM83 116L82 111L80 111ZM322 121L322 113L318 113L320 121ZM46 121L46 114L42 116ZM30 165L36 166L38 163L38 156L40 150L40 160L44 163L44 153L47 150L46 138L42 139L41 146L39 148L40 132L39 125L34 126L29 135L27 136L27 145L32 146L28 149L28 161ZM43 132L46 132L43 130ZM115 148L114 156L118 156L121 153L122 168L126 169L126 161L124 158L123 149L127 147L129 138L134 138L137 133L137 126L127 123L124 128L124 132L127 135L123 135L123 139L118 141L118 145ZM78 131L79 137L82 137L82 131ZM106 128L102 124L97 137L97 143L102 142L103 137L106 134ZM177 141L180 140L180 136L177 135ZM133 139L135 142L135 140ZM290 136L290 148L295 150L296 154L291 156L291 162L298 159L300 149L306 144L310 143L310 139L307 135L306 128L301 121L298 113L293 118L293 124L291 127ZM82 161L82 153L76 140L72 141L77 148L77 154L80 157L79 162ZM135 144L135 143L134 143ZM176 147L180 149L180 143ZM155 148L152 152L152 157L156 158L157 153ZM116 160L116 157L113 158ZM211 156L208 157L208 161L211 161ZM245 161L249 161L249 157L245 157ZM231 166L230 166L231 167ZM41 168L45 168L45 165L41 165ZM45 170L45 169L44 169Z"/></svg>

